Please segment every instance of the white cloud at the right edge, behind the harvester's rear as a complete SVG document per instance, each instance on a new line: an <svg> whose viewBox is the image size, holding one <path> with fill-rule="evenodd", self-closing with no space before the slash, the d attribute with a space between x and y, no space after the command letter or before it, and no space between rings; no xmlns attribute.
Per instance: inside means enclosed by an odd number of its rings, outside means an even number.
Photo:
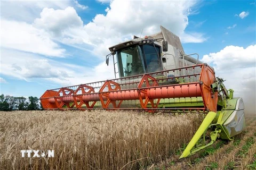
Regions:
<svg viewBox="0 0 256 170"><path fill-rule="evenodd" d="M204 55L202 61L213 65L217 77L225 79L225 86L243 97L247 109L255 111L256 45L246 48L227 46L217 53Z"/></svg>

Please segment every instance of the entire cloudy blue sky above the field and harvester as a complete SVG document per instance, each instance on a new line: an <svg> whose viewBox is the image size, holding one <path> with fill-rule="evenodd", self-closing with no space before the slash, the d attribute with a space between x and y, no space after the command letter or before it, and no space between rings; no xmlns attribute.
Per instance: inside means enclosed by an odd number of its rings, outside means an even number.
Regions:
<svg viewBox="0 0 256 170"><path fill-rule="evenodd" d="M115 78L108 47L160 25L255 107L255 1L1 1L0 94ZM111 63L111 60L110 60Z"/></svg>

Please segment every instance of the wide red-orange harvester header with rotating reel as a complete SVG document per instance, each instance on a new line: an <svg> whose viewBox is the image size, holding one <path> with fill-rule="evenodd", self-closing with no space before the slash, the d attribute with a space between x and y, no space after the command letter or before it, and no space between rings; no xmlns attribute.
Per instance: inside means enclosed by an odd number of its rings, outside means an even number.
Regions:
<svg viewBox="0 0 256 170"><path fill-rule="evenodd" d="M194 74L195 69L200 69L201 72ZM192 74L173 76L174 72L188 70ZM182 69L47 90L41 97L41 102L46 109L128 109L129 101L135 100L130 101L134 104L134 109L148 112L216 112L218 92L211 90L214 81L215 76L211 68L207 64L199 64ZM169 106L175 104L179 106Z"/></svg>

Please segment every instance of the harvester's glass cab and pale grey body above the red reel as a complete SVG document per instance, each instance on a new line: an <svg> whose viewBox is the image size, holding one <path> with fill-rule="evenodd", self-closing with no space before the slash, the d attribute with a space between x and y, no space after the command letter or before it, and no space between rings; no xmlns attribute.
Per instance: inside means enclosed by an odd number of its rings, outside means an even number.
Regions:
<svg viewBox="0 0 256 170"><path fill-rule="evenodd" d="M112 46L109 50L113 55L115 77L119 78L203 64L198 61L198 54L185 55L180 38L162 26L161 32L155 35L145 38L134 36L134 39ZM110 55L106 56L107 65ZM191 55L197 55L197 59ZM198 73L199 69L194 71ZM178 73L185 74L176 71L169 77Z"/></svg>

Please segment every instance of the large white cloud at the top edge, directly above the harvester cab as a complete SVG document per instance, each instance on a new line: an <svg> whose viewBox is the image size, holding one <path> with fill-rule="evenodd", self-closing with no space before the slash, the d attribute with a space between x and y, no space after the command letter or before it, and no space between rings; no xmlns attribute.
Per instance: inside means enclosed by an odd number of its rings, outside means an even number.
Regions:
<svg viewBox="0 0 256 170"><path fill-rule="evenodd" d="M171 28L174 33L181 33L188 24L188 10L195 2L133 2L112 1L106 15L98 14L93 22L85 25L87 31L93 28L109 28L101 33L143 33L151 34L159 31L159 25ZM125 8L123 7L125 6ZM175 14L175 17L173 17ZM165 18L163 18L165 16ZM129 24L128 24L129 23ZM175 24L174 24L175 23Z"/></svg>

